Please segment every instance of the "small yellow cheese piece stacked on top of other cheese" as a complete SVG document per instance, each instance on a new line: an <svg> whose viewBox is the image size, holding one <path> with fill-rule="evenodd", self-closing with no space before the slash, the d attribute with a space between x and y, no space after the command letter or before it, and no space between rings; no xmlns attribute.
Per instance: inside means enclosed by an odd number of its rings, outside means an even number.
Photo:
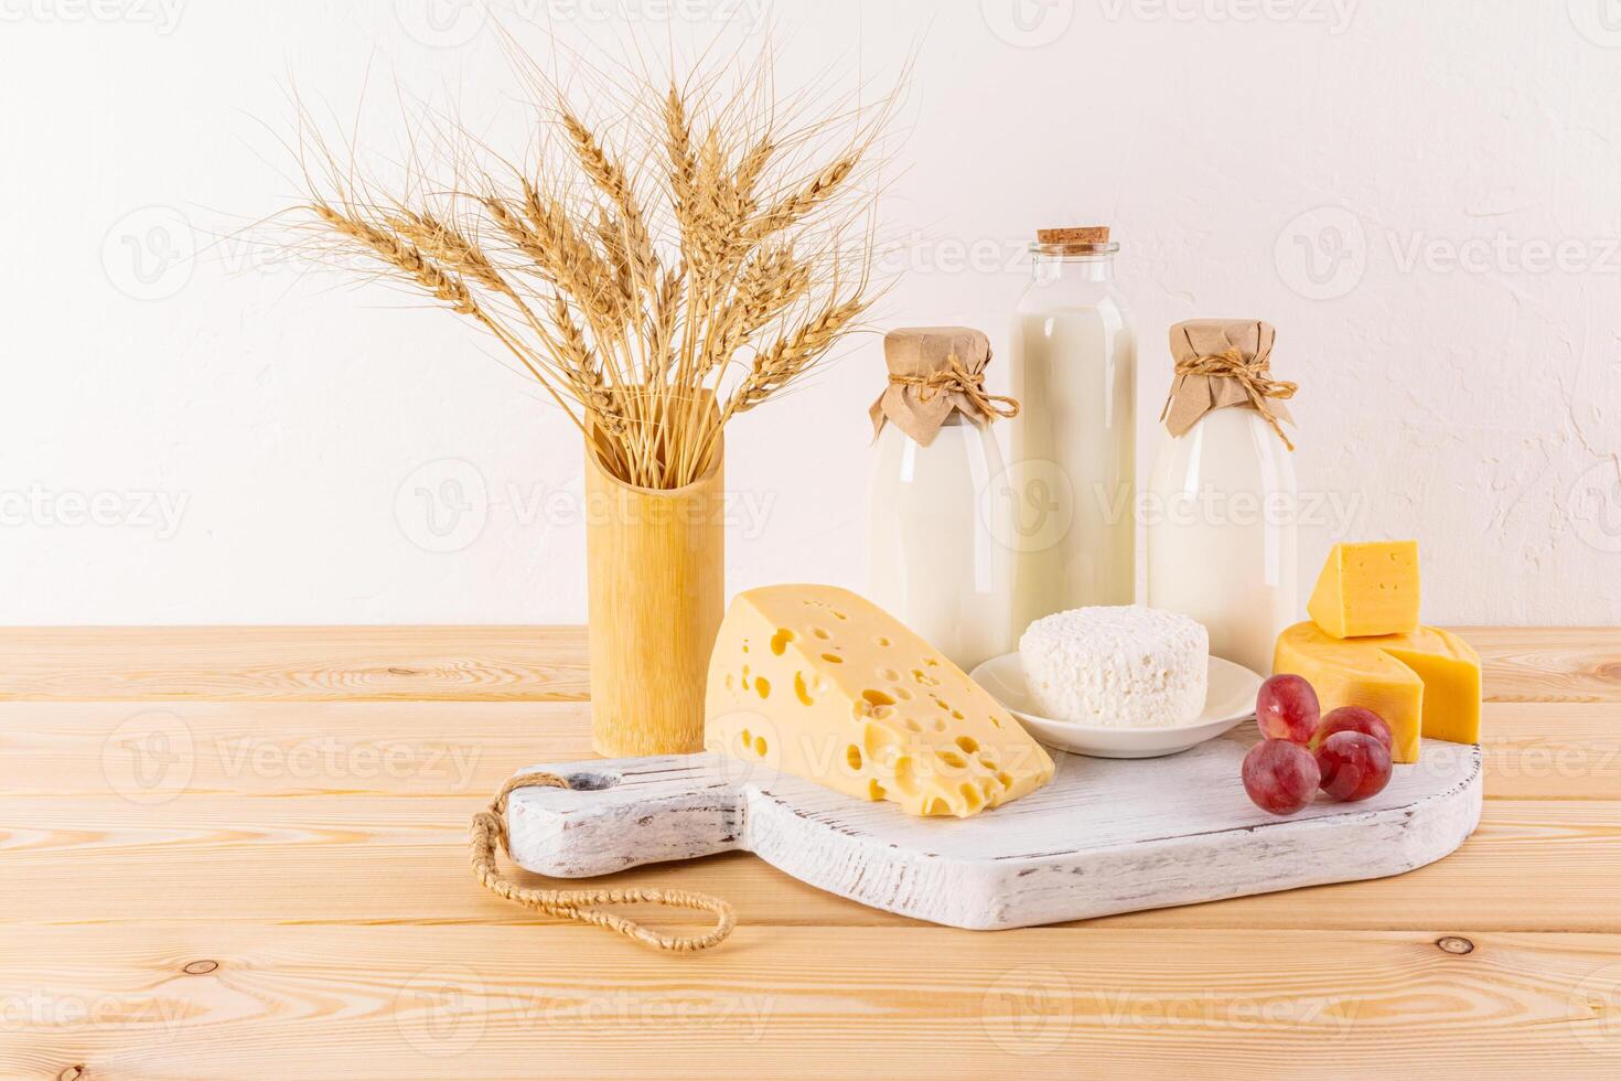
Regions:
<svg viewBox="0 0 1621 1081"><path fill-rule="evenodd" d="M1418 629L1418 541L1334 545L1307 613L1336 639L1412 634Z"/></svg>

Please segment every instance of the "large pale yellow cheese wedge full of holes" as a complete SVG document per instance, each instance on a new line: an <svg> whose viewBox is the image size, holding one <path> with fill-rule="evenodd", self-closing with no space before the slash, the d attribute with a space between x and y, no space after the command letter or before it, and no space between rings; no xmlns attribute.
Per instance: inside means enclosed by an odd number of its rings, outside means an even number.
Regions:
<svg viewBox="0 0 1621 1081"><path fill-rule="evenodd" d="M977 814L1052 780L1052 758L963 669L832 585L739 593L710 655L705 746L887 799Z"/></svg>

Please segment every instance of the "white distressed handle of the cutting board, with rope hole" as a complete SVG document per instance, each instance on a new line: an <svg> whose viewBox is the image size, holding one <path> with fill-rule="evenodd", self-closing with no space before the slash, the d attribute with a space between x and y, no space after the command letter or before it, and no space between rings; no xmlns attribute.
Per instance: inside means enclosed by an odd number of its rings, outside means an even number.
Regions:
<svg viewBox="0 0 1621 1081"><path fill-rule="evenodd" d="M713 754L535 767L569 788L520 788L507 801L512 859L554 878L742 848L747 767Z"/></svg>

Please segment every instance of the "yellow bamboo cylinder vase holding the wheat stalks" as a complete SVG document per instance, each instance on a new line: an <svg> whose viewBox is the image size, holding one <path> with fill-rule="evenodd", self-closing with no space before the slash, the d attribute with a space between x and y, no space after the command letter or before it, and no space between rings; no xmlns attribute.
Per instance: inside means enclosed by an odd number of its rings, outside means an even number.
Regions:
<svg viewBox="0 0 1621 1081"><path fill-rule="evenodd" d="M704 749L704 687L725 614L721 455L686 488L635 488L585 451L592 747Z"/></svg>

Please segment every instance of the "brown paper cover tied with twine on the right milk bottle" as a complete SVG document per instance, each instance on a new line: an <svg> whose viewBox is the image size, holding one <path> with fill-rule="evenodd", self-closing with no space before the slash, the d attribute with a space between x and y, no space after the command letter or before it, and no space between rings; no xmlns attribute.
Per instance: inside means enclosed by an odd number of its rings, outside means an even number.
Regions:
<svg viewBox="0 0 1621 1081"><path fill-rule="evenodd" d="M1238 405L1266 417L1292 451L1279 421L1295 423L1284 399L1297 387L1271 378L1276 340L1276 327L1261 319L1188 319L1170 327L1177 374L1161 413L1170 434L1180 436L1211 410ZM1201 374L1190 368L1225 368L1232 374Z"/></svg>

